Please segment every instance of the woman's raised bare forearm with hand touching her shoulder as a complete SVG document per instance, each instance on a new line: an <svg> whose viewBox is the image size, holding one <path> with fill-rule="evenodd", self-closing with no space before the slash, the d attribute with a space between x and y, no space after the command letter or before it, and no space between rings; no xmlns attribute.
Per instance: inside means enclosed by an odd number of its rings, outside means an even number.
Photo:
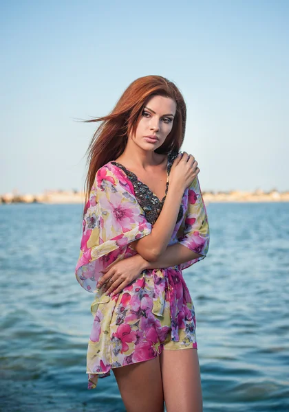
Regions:
<svg viewBox="0 0 289 412"><path fill-rule="evenodd" d="M189 187L200 171L192 155L182 153L173 162L169 175L169 187L160 216L151 229L151 234L133 242L134 249L149 262L156 262L167 249L178 212L182 203L184 190Z"/></svg>

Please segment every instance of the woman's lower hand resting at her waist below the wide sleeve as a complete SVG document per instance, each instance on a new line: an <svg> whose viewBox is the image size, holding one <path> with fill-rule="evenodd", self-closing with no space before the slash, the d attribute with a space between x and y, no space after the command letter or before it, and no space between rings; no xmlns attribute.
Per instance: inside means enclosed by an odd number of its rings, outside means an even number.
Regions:
<svg viewBox="0 0 289 412"><path fill-rule="evenodd" d="M136 258L136 255L118 260L118 262L113 262L102 271L105 275L98 281L97 287L101 288L105 285L103 292L105 292L106 295L111 293L112 297L120 293L122 289L134 279L137 279L143 270L140 260Z"/></svg>

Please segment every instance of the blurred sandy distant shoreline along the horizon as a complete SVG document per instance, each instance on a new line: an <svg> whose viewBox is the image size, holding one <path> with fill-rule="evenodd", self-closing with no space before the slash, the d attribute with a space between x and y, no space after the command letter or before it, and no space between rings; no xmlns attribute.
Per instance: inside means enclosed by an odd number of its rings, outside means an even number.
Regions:
<svg viewBox="0 0 289 412"><path fill-rule="evenodd" d="M255 192L242 192L233 190L230 192L202 192L204 203L261 203L261 202L289 202L289 192L263 192L255 190ZM18 194L6 193L0 194L0 204L7 205L11 203L43 203L43 204L83 204L85 203L84 192L76 190L47 190L43 194Z"/></svg>

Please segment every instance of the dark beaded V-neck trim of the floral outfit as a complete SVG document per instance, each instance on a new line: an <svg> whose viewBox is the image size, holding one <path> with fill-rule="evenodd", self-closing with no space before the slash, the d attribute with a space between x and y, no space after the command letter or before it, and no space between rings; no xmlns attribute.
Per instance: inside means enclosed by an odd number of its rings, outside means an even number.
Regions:
<svg viewBox="0 0 289 412"><path fill-rule="evenodd" d="M173 161L175 160L177 156L178 156L177 151L172 151L172 152L169 152L168 154L168 163L167 163L168 175L171 172L171 166L173 165ZM151 225L153 225L158 219L158 216L160 215L160 212L164 205L164 201L166 200L167 192L169 188L169 181L167 181L165 195L162 198L162 201L160 201L160 199L155 194L153 194L153 192L149 189L147 185L142 183L142 181L138 180L138 176L136 176L136 174L134 174L133 172L125 168L124 165L122 165L121 163L118 163L117 161L111 161L110 163L118 166L118 168L122 169L125 172L129 180L133 184L134 194L136 196L136 199L140 207L142 207L142 209L144 210L144 213L147 217L147 221L151 223ZM182 209L182 205L180 205L177 222L179 222L182 219L183 213L184 212Z"/></svg>

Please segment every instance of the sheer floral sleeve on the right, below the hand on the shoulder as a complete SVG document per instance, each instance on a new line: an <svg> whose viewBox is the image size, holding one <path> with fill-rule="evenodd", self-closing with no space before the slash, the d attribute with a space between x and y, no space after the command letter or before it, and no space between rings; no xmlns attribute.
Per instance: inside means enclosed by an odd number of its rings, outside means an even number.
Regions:
<svg viewBox="0 0 289 412"><path fill-rule="evenodd" d="M189 268L192 264L206 258L210 243L208 216L198 176L196 176L196 179L193 180L193 183L191 183L191 186L188 188L187 196L188 205L184 221L184 233L178 241L180 244L183 244L195 253L199 253L201 256L180 264L180 269Z"/></svg>

